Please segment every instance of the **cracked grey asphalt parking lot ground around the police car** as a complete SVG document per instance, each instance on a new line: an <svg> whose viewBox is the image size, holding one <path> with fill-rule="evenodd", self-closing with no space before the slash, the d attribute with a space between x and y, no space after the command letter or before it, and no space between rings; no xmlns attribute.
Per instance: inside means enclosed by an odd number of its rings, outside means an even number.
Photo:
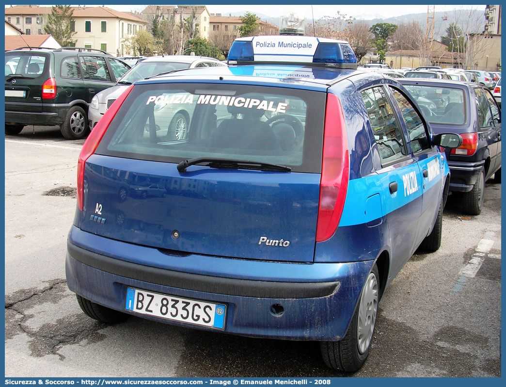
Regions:
<svg viewBox="0 0 506 387"><path fill-rule="evenodd" d="M83 142L57 127L5 137L7 377L350 376L327 369L313 342L86 317L65 283ZM478 216L449 198L441 248L413 255L387 289L351 376L500 376L500 290L501 185L489 181Z"/></svg>

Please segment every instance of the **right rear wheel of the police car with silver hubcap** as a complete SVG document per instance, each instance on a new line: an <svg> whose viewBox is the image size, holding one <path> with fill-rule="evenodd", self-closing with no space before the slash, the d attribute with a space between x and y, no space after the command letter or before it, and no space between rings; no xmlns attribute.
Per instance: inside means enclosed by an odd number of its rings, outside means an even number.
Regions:
<svg viewBox="0 0 506 387"><path fill-rule="evenodd" d="M371 309L369 309L368 303L364 304L366 301L364 301L363 297L364 292L369 293L370 290L372 290L373 293L370 305ZM362 292L360 293L357 308L355 309L355 313L353 314L353 318L351 320L350 326L348 327L348 332L346 332L345 337L343 337L340 341L320 342L321 356L327 367L334 370L346 372L355 372L362 367L367 359L367 356L369 355L372 337L374 336L374 326L376 324L378 302L379 275L377 266L374 264L371 272L367 276L367 280L364 284L364 287L362 288ZM362 315L361 311L363 312L369 310L371 313L370 315L368 314L366 316L366 320L369 318L371 319L371 324L369 324L369 333L367 335L369 339L368 342L364 342L362 338L359 338L358 333L359 315ZM359 349L359 346L362 347L361 350Z"/></svg>

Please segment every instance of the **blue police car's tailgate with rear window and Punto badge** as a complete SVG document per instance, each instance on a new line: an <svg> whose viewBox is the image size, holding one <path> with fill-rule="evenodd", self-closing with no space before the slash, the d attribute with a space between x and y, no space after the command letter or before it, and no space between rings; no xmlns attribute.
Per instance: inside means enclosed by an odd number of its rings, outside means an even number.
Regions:
<svg viewBox="0 0 506 387"><path fill-rule="evenodd" d="M80 228L187 253L312 261L326 93L141 86L87 161ZM202 157L215 162L177 168Z"/></svg>

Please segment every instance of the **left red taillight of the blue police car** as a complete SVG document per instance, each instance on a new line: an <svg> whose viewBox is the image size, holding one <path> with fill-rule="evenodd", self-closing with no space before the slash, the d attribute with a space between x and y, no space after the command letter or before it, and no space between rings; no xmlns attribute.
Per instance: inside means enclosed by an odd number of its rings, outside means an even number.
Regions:
<svg viewBox="0 0 506 387"><path fill-rule="evenodd" d="M117 111L121 107L125 98L130 94L134 85L126 89L121 96L111 105L111 107L105 112L97 125L93 128L92 132L86 139L85 144L82 146L81 152L79 153L79 160L77 162L77 207L79 210L84 208L84 192L83 187L85 185L85 165L88 158L95 153L98 144L102 140L109 124L114 119Z"/></svg>

